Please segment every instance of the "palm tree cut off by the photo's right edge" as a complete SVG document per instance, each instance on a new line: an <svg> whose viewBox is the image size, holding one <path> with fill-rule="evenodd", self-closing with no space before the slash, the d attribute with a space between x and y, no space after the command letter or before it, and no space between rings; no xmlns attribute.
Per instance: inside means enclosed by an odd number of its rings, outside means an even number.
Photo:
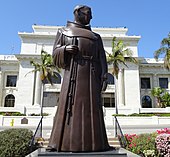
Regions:
<svg viewBox="0 0 170 157"><path fill-rule="evenodd" d="M155 51L154 58L158 60L160 55L164 54L164 67L170 70L170 33L167 38L161 41L161 47Z"/></svg>

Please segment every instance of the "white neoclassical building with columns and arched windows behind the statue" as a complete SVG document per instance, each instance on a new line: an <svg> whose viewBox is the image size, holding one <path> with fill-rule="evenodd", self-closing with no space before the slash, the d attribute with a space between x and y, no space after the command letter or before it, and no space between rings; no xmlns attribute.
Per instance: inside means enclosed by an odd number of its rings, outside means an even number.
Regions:
<svg viewBox="0 0 170 157"><path fill-rule="evenodd" d="M46 83L42 89L40 75L38 72L31 72L34 67L30 61L40 62L42 48L52 53L56 32L60 27L33 25L33 32L18 33L21 39L20 54L0 55L1 109L36 112L36 108L43 102L44 108L51 112L57 106L63 71L57 74L59 79L54 81L53 86ZM138 57L138 42L141 37L129 36L127 28L92 29L101 35L107 52L112 51L112 38L116 36L117 40L123 40L127 48L132 50L133 57L139 60L138 64L127 62L128 67L121 66L117 82L111 74L112 65L108 65L109 84L107 90L102 93L103 106L114 110L117 93L119 110L128 109L136 112L140 108L157 107L151 89L157 86L170 89L170 72L163 68L163 61Z"/></svg>

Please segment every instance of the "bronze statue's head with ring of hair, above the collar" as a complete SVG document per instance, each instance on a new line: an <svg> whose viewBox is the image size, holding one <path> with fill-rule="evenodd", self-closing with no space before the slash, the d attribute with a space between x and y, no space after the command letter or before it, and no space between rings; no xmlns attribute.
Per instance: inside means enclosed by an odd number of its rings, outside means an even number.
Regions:
<svg viewBox="0 0 170 157"><path fill-rule="evenodd" d="M74 8L74 20L82 25L88 25L92 19L91 8L86 5L78 5Z"/></svg>

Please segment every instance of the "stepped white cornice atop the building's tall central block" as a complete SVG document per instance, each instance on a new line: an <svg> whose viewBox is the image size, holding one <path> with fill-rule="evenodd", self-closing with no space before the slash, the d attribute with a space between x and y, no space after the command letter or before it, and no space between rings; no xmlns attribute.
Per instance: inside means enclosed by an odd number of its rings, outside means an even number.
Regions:
<svg viewBox="0 0 170 157"><path fill-rule="evenodd" d="M29 39L29 38L41 38L41 39L55 39L57 30L63 26L38 26L33 25L33 31L31 33L28 32L18 32L18 35L21 39ZM96 33L99 33L100 36L105 40L111 40L113 37L117 37L118 40L123 41L136 41L138 42L141 36L128 36L126 35L128 29L124 27L120 28L107 28L107 27L97 27L92 28L92 30Z"/></svg>

